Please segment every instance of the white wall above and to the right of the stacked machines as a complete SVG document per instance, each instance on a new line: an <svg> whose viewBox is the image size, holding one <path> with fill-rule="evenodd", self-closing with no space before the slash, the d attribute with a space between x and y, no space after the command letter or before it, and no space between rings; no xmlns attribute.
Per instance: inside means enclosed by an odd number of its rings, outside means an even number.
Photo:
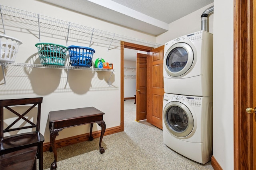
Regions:
<svg viewBox="0 0 256 170"><path fill-rule="evenodd" d="M212 5L170 23L169 31L156 37L156 43L166 43L176 37L199 31L200 16ZM233 0L214 0L214 13L208 18L209 32L214 35L213 156L224 170L234 169L233 6Z"/></svg>

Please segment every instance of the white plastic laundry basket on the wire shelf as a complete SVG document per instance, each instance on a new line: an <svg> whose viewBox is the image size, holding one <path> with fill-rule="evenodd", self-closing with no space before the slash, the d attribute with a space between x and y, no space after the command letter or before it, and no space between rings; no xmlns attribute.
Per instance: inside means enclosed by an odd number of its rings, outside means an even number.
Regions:
<svg viewBox="0 0 256 170"><path fill-rule="evenodd" d="M0 34L0 62L15 62L20 44L20 40Z"/></svg>

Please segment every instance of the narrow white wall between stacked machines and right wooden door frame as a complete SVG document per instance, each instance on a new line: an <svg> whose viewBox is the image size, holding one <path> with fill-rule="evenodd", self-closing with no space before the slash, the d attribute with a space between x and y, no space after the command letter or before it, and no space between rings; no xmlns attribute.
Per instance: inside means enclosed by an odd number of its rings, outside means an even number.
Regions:
<svg viewBox="0 0 256 170"><path fill-rule="evenodd" d="M233 0L214 0L213 155L224 170L234 169Z"/></svg>

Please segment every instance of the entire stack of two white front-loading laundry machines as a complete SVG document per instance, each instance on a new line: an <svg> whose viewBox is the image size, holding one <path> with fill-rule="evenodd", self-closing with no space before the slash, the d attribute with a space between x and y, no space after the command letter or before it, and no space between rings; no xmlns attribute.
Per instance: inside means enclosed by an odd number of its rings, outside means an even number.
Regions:
<svg viewBox="0 0 256 170"><path fill-rule="evenodd" d="M164 47L164 144L201 164L212 156L212 56L203 30Z"/></svg>

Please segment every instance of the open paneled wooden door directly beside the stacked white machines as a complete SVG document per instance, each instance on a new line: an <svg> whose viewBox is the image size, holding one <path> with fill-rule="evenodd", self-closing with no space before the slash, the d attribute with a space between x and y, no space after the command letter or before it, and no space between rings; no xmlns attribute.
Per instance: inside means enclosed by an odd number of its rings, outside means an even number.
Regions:
<svg viewBox="0 0 256 170"><path fill-rule="evenodd" d="M163 76L164 45L150 51L147 60L148 70L148 112L147 121L152 125L163 129L162 109L164 100L164 76Z"/></svg>

